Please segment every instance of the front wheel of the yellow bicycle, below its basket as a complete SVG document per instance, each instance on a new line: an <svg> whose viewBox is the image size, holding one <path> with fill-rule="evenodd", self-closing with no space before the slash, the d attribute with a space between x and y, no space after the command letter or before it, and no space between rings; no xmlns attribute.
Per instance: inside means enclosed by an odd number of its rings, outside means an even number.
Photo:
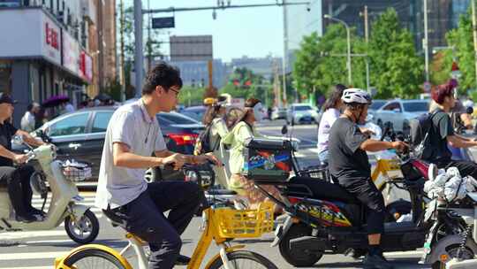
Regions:
<svg viewBox="0 0 477 269"><path fill-rule="evenodd" d="M227 253L230 264L234 269L278 269L268 258L252 251L234 251ZM216 257L216 260L208 269L225 268L222 258Z"/></svg>

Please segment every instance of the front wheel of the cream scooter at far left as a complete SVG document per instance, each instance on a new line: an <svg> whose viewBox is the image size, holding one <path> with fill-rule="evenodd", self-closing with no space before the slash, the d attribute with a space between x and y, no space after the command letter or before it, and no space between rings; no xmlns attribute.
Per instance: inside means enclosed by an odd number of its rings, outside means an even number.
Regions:
<svg viewBox="0 0 477 269"><path fill-rule="evenodd" d="M64 230L72 241L87 244L95 241L99 234L99 221L95 213L89 209L80 219L73 220L71 216L64 219Z"/></svg>

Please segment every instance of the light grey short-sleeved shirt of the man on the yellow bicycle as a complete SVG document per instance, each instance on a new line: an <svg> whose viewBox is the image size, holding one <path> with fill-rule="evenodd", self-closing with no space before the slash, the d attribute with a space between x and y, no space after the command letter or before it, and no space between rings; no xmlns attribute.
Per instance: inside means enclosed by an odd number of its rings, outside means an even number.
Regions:
<svg viewBox="0 0 477 269"><path fill-rule="evenodd" d="M96 190L95 206L114 209L132 202L148 188L144 180L147 169L118 167L113 164L113 143L122 142L136 155L150 157L153 152L166 150L163 133L155 117L151 118L142 99L125 104L110 119Z"/></svg>

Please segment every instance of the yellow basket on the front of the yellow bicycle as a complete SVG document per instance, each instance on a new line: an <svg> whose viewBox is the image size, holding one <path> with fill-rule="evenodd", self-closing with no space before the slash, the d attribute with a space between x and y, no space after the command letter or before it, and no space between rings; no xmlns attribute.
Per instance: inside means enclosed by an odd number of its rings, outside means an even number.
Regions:
<svg viewBox="0 0 477 269"><path fill-rule="evenodd" d="M256 210L219 208L214 211L218 234L223 238L260 237L273 230L273 203L261 203Z"/></svg>

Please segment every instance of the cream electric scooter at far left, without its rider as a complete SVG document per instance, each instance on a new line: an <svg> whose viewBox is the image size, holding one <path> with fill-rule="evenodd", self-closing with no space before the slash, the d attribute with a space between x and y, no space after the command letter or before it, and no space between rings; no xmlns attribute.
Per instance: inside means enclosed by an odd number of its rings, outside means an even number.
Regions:
<svg viewBox="0 0 477 269"><path fill-rule="evenodd" d="M13 142L27 145L20 136L15 137ZM29 145L27 146L29 147ZM48 230L58 227L64 222L66 234L74 242L81 244L93 242L99 233L99 222L89 207L77 204L84 198L79 196L78 188L74 182L84 181L87 178L87 169L89 169L89 174L91 173L90 168L78 167L78 165L67 166L57 160L57 148L53 144L42 145L36 149L29 148L27 161L36 159L42 167L42 173L35 172L30 181L34 191L44 199L43 208L49 189L51 190L52 196L48 212L44 218L38 221L30 223L17 221L7 188L0 187L0 233L2 231Z"/></svg>

